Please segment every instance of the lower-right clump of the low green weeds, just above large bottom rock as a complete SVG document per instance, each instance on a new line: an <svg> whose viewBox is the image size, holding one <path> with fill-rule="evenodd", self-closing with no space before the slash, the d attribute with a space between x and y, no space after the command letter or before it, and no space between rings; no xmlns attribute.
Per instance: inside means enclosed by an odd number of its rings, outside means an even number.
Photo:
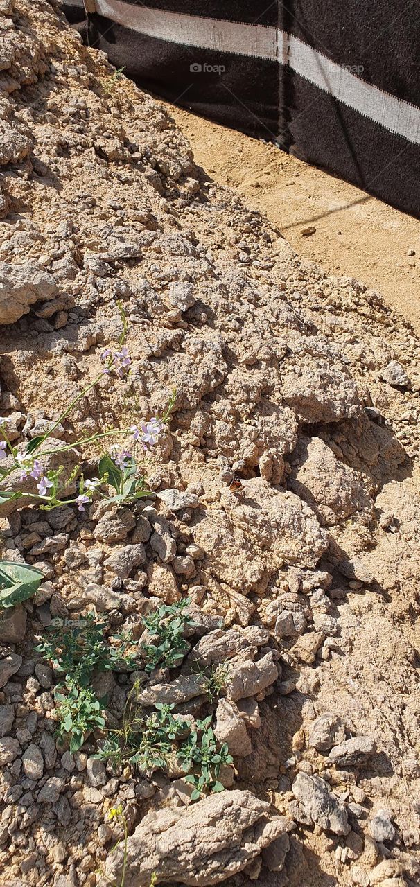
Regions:
<svg viewBox="0 0 420 887"><path fill-rule="evenodd" d="M194 785L191 800L197 801L206 791L223 791L224 785L218 781L220 768L223 764L233 764L234 758L224 742L219 744L211 729L211 716L197 721L196 730L192 730L186 741L177 752L179 763L184 767L186 782ZM190 771L193 773L190 773Z"/></svg>

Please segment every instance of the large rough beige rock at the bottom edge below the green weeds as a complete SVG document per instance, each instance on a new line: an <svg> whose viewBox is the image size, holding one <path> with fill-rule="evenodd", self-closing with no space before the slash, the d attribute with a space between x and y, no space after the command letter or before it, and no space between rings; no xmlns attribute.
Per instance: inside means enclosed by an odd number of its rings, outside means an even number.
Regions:
<svg viewBox="0 0 420 887"><path fill-rule="evenodd" d="M149 813L127 843L126 887L181 881L210 887L242 872L285 831L285 820L249 791L224 791L197 804ZM119 845L108 855L103 887L118 882L123 866Z"/></svg>

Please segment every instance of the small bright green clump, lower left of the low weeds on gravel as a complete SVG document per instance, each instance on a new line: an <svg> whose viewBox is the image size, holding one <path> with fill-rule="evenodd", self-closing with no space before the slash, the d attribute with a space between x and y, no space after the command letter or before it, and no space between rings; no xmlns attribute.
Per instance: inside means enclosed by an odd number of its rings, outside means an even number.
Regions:
<svg viewBox="0 0 420 887"><path fill-rule="evenodd" d="M70 751L78 751L88 734L105 726L104 712L91 687L72 684L67 695L56 693L59 702L56 714L59 719L57 734L60 739L70 734Z"/></svg>

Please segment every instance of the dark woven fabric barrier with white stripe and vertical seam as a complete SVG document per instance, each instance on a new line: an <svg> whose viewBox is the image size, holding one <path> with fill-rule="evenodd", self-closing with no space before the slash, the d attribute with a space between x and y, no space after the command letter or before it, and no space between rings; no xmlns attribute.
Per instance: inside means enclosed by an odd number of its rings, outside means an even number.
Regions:
<svg viewBox="0 0 420 887"><path fill-rule="evenodd" d="M65 3L73 20L82 2ZM90 45L148 90L420 216L415 0L85 6Z"/></svg>

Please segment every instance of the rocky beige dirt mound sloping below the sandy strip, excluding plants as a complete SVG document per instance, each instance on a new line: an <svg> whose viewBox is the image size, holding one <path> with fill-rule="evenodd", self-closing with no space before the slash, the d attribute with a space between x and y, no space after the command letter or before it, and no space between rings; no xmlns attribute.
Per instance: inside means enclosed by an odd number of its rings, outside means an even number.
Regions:
<svg viewBox="0 0 420 887"><path fill-rule="evenodd" d="M120 884L121 805L127 887L414 887L418 341L377 294L299 261L215 187L162 107L54 4L1 0L0 26L12 442L51 427L95 377L119 341L118 302L135 416L177 389L147 455L153 502L2 506L2 555L44 573L0 624L3 883ZM129 383L109 375L55 436L133 411ZM115 772L94 736L74 754L56 740L57 675L34 652L52 619L86 608L140 641L142 615L186 596L199 626L186 660L152 675L141 702L194 721L209 710L194 665L226 665L210 713L234 765L196 803L182 771ZM106 674L113 725L131 679Z"/></svg>

